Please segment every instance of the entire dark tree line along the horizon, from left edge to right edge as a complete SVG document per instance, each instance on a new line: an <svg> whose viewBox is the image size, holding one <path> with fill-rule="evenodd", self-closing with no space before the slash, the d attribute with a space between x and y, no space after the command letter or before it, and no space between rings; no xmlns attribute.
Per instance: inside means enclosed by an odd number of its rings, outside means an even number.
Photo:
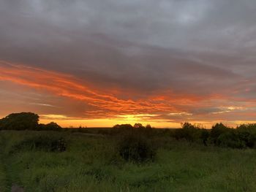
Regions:
<svg viewBox="0 0 256 192"><path fill-rule="evenodd" d="M66 129L66 128L65 128ZM72 128L74 129L74 128ZM83 130L80 130L83 129ZM12 113L0 119L0 130L38 130L38 131L61 131L63 128L57 123L39 123L39 115L33 112ZM74 129L76 130L76 129ZM72 130L73 131L73 130ZM77 131L89 131L79 128ZM158 129L150 125L143 126L141 123L121 124L112 129L100 130L100 134L118 135L127 132L141 134L148 139L157 136L173 137L177 140L188 142L201 142L203 145L215 145L219 147L255 148L256 147L256 123L242 124L236 128L217 123L211 129L202 128L192 123L182 123L181 128Z"/></svg>

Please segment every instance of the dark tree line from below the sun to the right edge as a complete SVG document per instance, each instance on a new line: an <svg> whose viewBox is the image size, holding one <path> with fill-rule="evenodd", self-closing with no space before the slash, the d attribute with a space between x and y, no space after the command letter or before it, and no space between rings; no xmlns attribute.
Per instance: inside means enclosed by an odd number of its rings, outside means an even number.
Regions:
<svg viewBox="0 0 256 192"><path fill-rule="evenodd" d="M141 125L141 124L140 124ZM256 123L241 124L236 128L217 123L211 129L202 128L200 125L192 123L181 123L181 128L159 130L151 126L135 126L129 124L116 125L113 129L116 132L137 131L147 137L165 135L176 140L186 140L187 142L200 142L203 145L214 145L218 147L232 148L256 148Z"/></svg>

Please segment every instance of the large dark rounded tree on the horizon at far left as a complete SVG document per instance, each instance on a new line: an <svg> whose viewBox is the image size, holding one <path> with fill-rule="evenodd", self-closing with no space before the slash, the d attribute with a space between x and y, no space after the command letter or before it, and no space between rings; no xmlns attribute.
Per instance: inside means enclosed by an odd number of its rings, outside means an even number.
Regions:
<svg viewBox="0 0 256 192"><path fill-rule="evenodd" d="M12 113L0 120L1 129L36 129L39 116L33 112Z"/></svg>

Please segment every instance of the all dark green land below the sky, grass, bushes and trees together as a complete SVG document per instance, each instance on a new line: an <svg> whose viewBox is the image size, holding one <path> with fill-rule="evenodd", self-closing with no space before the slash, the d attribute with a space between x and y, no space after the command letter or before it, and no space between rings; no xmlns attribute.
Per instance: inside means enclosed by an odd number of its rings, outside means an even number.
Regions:
<svg viewBox="0 0 256 192"><path fill-rule="evenodd" d="M61 128L38 119L20 113L0 120L0 191L13 185L33 192L256 188L256 124Z"/></svg>

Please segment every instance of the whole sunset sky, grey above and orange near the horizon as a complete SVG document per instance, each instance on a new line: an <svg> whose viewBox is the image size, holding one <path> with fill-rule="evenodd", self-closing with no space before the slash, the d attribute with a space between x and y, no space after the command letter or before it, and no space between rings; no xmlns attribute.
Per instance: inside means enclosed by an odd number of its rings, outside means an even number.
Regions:
<svg viewBox="0 0 256 192"><path fill-rule="evenodd" d="M1 0L0 118L256 121L255 0Z"/></svg>

